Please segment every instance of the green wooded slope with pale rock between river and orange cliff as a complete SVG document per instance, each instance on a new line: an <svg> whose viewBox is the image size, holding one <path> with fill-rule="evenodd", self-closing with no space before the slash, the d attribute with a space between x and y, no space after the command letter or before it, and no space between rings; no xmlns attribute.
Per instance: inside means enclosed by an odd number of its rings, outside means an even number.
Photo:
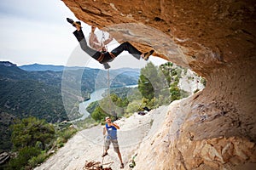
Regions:
<svg viewBox="0 0 256 170"><path fill-rule="evenodd" d="M134 112L169 105L174 100L183 99L204 88L206 80L191 72L171 62L160 66L148 62L140 71L136 88L111 88L103 94L103 99L90 103L87 111L96 122L103 123L106 116L115 120ZM184 82L189 91L183 90ZM195 90L191 93L195 84ZM79 123L82 127L84 124Z"/></svg>

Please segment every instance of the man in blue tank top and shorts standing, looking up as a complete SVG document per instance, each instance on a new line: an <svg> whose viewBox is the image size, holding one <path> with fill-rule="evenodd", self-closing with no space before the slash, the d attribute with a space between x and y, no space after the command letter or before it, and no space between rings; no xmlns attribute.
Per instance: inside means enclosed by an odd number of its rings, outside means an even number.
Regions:
<svg viewBox="0 0 256 170"><path fill-rule="evenodd" d="M111 119L108 116L105 118L105 122L106 122L106 125L103 128L103 135L105 136L107 132L107 138L105 139L105 144L104 144L105 152L103 153L102 157L108 155L109 145L110 143L112 143L113 150L118 154L119 160L121 162L120 168L124 168L124 163L122 161L122 156L119 150L119 143L117 140L117 129L119 129L120 127L117 124L111 122Z"/></svg>

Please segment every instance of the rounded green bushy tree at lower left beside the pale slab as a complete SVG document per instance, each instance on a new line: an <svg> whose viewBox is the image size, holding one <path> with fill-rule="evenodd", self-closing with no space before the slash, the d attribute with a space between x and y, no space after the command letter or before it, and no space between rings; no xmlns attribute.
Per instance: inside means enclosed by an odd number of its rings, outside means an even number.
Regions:
<svg viewBox="0 0 256 170"><path fill-rule="evenodd" d="M26 146L34 147L38 142L42 144L42 149L44 150L46 144L49 144L55 136L55 128L36 117L28 117L17 121L11 126L11 129L11 141L15 146L15 150Z"/></svg>

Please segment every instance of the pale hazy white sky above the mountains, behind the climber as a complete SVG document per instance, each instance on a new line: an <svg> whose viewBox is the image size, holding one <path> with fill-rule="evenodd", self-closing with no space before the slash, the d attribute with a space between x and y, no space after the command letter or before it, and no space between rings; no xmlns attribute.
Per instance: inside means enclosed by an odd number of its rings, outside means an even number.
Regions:
<svg viewBox="0 0 256 170"><path fill-rule="evenodd" d="M61 0L1 0L0 3L0 60L16 65L78 65L100 67L79 48L73 37L74 28L66 18L76 20L73 13ZM83 24L85 37L90 26ZM108 49L118 46L112 42ZM125 55L125 56L124 56ZM114 59L113 67L141 67L138 62L124 54ZM127 58L126 58L127 56ZM149 59L159 65L165 60Z"/></svg>

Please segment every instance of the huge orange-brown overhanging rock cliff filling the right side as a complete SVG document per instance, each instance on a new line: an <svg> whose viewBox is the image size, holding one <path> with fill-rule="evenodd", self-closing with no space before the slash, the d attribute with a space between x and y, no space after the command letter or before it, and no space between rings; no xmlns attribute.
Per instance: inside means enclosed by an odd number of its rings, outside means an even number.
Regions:
<svg viewBox="0 0 256 170"><path fill-rule="evenodd" d="M137 169L255 166L255 1L63 2L117 41L154 48L207 79L203 91L170 106L163 128L144 141L151 149L138 151Z"/></svg>

